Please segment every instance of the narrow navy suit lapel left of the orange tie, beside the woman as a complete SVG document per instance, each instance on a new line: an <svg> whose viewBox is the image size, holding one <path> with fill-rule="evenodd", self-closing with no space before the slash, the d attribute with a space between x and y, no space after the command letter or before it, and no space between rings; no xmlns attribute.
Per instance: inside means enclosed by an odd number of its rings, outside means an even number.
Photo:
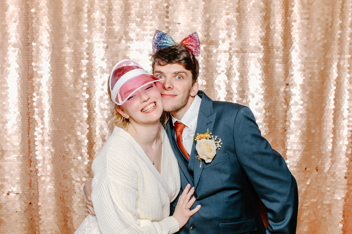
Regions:
<svg viewBox="0 0 352 234"><path fill-rule="evenodd" d="M172 124L171 118L169 119L166 132L169 136L170 144L171 144L171 147L175 153L176 159L178 161L178 165L180 165L180 168L181 168L183 174L186 176L186 179L188 180L189 184L193 187L193 180L188 172L187 161L186 161L186 159L184 159L183 153L182 153L180 147L178 147L177 142L176 142L175 128L174 128L174 125Z"/></svg>

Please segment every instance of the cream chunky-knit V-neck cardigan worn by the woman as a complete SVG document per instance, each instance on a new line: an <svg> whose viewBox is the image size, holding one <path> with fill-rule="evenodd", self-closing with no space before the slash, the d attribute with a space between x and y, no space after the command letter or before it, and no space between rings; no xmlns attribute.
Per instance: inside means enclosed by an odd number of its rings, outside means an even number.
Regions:
<svg viewBox="0 0 352 234"><path fill-rule="evenodd" d="M162 128L161 174L130 134L115 127L92 169L89 215L76 233L171 234L180 227L170 215L170 202L180 192L180 174L168 136ZM96 220L99 231L94 225ZM93 226L92 226L93 225Z"/></svg>

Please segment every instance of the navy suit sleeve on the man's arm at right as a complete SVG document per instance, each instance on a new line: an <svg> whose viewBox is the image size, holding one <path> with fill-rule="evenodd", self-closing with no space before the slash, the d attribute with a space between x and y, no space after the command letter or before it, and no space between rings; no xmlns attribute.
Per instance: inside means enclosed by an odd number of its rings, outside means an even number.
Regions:
<svg viewBox="0 0 352 234"><path fill-rule="evenodd" d="M296 233L297 183L283 157L263 138L253 113L241 107L234 122L235 152L241 167L268 208L266 233Z"/></svg>

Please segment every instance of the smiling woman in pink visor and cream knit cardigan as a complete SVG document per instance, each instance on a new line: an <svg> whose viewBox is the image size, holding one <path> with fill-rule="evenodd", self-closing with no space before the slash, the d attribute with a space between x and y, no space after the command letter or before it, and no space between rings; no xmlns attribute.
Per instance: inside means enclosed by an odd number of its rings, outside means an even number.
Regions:
<svg viewBox="0 0 352 234"><path fill-rule="evenodd" d="M194 188L181 194L175 212L170 202L180 191L177 160L160 123L163 103L155 83L138 63L122 60L112 69L108 93L115 103L114 130L92 164L92 202L75 233L177 232L193 210ZM162 123L167 120L163 116Z"/></svg>

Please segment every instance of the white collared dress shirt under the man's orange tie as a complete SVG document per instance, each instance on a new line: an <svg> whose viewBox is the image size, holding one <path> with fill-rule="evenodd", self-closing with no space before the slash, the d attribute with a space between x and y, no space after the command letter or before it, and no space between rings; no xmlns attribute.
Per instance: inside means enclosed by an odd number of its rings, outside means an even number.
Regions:
<svg viewBox="0 0 352 234"><path fill-rule="evenodd" d="M183 115L181 120L178 120L171 115L172 124L178 121L186 125L186 127L184 127L182 132L182 144L184 149L186 149L188 155L191 154L191 150L194 142L193 136L196 132L198 112L199 112L201 101L202 99L198 95L195 95L193 103L191 104L187 112Z"/></svg>

